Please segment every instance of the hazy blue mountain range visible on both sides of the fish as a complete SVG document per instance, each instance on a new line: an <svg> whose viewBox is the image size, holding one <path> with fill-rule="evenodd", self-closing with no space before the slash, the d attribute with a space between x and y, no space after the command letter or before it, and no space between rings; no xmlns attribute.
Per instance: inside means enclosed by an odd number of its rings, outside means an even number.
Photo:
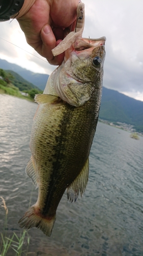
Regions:
<svg viewBox="0 0 143 256"><path fill-rule="evenodd" d="M0 59L0 68L18 73L15 75L14 72L12 73L17 77L16 79L19 79L18 75L20 75L24 81L33 83L33 86L41 90L45 88L48 75L36 74L2 59ZM143 101L103 87L99 118L110 122L131 124L137 132L143 133Z"/></svg>

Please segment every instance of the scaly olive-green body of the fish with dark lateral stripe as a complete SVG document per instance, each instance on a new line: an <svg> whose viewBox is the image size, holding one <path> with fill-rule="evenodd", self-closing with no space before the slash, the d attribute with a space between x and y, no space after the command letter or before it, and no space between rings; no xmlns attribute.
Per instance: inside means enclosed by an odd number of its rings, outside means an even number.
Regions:
<svg viewBox="0 0 143 256"><path fill-rule="evenodd" d="M31 148L35 165L39 169L39 190L42 189L39 206L42 214L55 214L67 186L77 177L87 161L97 117L98 109L94 99L82 108L66 103L60 106L54 104L51 108L47 103L39 108L35 118L37 125L33 127ZM54 202L52 208L51 202Z"/></svg>

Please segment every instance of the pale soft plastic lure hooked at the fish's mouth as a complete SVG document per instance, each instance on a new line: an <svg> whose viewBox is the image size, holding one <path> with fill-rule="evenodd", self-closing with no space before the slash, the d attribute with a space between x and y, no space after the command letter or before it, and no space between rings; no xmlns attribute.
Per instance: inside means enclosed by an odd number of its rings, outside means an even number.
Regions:
<svg viewBox="0 0 143 256"><path fill-rule="evenodd" d="M74 32L70 32L58 46L52 49L53 56L65 52L76 40L77 37L82 37L84 29L84 4L79 3L77 6L77 23ZM79 18L80 17L80 18Z"/></svg>

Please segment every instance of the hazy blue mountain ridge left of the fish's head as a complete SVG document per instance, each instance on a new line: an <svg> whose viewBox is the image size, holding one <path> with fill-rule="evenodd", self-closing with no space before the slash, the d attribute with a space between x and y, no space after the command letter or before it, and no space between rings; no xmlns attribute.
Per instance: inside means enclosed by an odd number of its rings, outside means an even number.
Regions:
<svg viewBox="0 0 143 256"><path fill-rule="evenodd" d="M30 70L26 70L21 68L20 66L9 63L7 60L0 59L0 68L4 70L12 70L26 79L28 82L33 83L36 87L40 90L44 91L46 86L46 82L48 80L49 75L46 74L39 74L31 72Z"/></svg>

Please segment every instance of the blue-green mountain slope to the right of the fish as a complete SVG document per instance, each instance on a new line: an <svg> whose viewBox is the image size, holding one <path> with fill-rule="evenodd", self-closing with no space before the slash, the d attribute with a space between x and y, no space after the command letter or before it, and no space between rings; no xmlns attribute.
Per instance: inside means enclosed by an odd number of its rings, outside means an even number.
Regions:
<svg viewBox="0 0 143 256"><path fill-rule="evenodd" d="M99 118L132 124L136 131L143 132L143 101L103 87Z"/></svg>

